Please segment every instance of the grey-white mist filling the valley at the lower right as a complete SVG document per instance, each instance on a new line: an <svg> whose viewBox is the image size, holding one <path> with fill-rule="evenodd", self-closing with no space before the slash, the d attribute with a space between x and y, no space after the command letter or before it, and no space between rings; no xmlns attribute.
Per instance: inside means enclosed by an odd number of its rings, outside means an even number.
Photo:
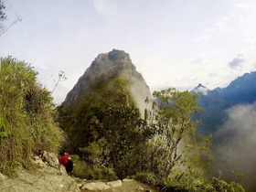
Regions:
<svg viewBox="0 0 256 192"><path fill-rule="evenodd" d="M227 113L228 120L214 135L213 172L220 179L238 181L247 191L253 191L256 188L256 103L236 105Z"/></svg>

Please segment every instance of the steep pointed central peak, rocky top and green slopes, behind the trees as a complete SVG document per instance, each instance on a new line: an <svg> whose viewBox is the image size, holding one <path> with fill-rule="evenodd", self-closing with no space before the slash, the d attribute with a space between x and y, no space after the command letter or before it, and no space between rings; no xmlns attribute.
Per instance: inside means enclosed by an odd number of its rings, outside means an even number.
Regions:
<svg viewBox="0 0 256 192"><path fill-rule="evenodd" d="M100 54L59 107L60 126L70 139L69 150L77 152L99 136L97 126L110 105L133 106L143 116L146 98L151 100L151 93L129 54L116 49Z"/></svg>

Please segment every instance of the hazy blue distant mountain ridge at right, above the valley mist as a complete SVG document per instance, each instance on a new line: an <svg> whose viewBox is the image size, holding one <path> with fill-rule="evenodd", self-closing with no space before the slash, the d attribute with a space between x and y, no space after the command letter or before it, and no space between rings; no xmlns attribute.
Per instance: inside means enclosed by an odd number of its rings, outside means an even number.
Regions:
<svg viewBox="0 0 256 192"><path fill-rule="evenodd" d="M232 80L226 88L216 88L209 91L199 84L191 92L199 94L198 105L203 108L203 112L195 115L196 119L202 121L198 131L215 133L219 129L219 125L227 119L225 110L236 104L256 101L256 72L245 73L236 80Z"/></svg>

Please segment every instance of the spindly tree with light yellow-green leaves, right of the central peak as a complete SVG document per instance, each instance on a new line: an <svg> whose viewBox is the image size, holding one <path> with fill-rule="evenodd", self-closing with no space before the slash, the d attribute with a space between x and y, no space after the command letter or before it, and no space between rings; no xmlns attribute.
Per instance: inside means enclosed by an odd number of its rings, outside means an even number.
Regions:
<svg viewBox="0 0 256 192"><path fill-rule="evenodd" d="M197 94L188 91L167 89L155 91L153 96L152 110L144 115L155 135L150 141L154 150L149 164L154 167L155 176L165 178L175 166L186 166L186 153L191 152L191 146L195 145L192 135L197 122L191 117L201 109L197 107Z"/></svg>

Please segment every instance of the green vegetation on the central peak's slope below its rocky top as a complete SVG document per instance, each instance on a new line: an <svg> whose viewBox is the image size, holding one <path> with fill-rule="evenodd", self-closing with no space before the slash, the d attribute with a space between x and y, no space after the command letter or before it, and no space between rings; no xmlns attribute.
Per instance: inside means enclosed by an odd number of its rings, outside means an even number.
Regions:
<svg viewBox="0 0 256 192"><path fill-rule="evenodd" d="M59 107L60 126L69 135L69 152L79 153L80 147L95 140L94 125L102 121L103 113L110 105L133 105L128 86L129 82L121 77L102 75L89 84L82 100L71 109Z"/></svg>

